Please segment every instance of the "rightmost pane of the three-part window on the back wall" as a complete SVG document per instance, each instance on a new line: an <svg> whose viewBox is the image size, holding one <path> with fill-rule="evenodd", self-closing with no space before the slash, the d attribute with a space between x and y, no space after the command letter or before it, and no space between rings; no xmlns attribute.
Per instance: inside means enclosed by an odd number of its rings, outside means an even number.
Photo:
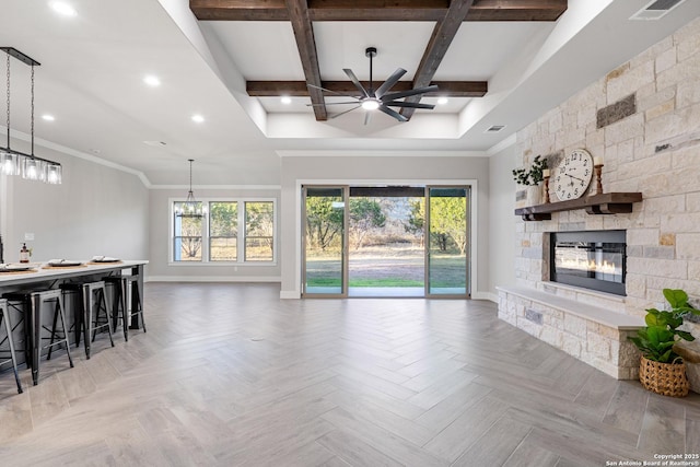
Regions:
<svg viewBox="0 0 700 467"><path fill-rule="evenodd" d="M245 203L245 260L273 259L273 203L258 201Z"/></svg>

